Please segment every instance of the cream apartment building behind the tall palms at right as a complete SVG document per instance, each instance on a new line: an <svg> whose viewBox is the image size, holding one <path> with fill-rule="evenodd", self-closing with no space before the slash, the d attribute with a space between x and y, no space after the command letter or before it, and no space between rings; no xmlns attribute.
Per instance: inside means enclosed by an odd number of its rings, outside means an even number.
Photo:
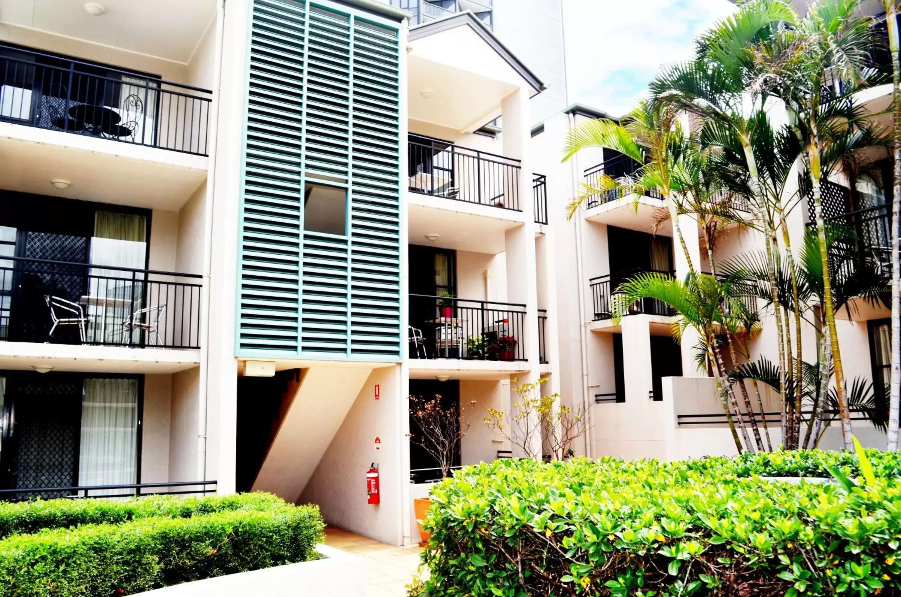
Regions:
<svg viewBox="0 0 901 597"><path fill-rule="evenodd" d="M878 3L864 8L878 16ZM886 57L887 59L887 57ZM891 86L877 86L855 98L873 114L878 125L890 128ZM725 424L714 379L699 370L690 336L678 343L670 326L674 312L653 300L635 303L628 315L614 325L611 295L616 286L640 272L660 272L684 278L687 262L674 244L672 222L666 204L653 193L638 197L616 191L589 197L568 221L562 205L596 186L602 175L632 174L639 164L608 149L583 150L567 162L563 146L567 131L589 119L617 119L584 105L572 105L533 129L533 153L546 164L550 227L558 258L559 386L564 400L589 414L589 433L580 447L592 457L658 457L678 459L706 455L731 455L735 446ZM770 111L778 118L778 111ZM856 180L836 177L824 185L824 214L856 232L860 259L876 264L890 276L891 159L885 149L873 149L867 157L872 167ZM735 204L738 212L747 211ZM787 228L793 247L802 246L805 230L814 222L812 197L803 198L788 214ZM703 240L704 231L689 215L679 217L691 260L700 270L711 271ZM718 265L741 254L764 251L757 232L731 226L717 232ZM768 357L778 363L776 325L763 304L760 331L746 335L747 355L741 362ZM877 388L889 382L890 311L855 298L836 313L842 362L849 387L854 378ZM690 330L689 330L690 331ZM817 360L812 325L803 326L805 361ZM778 394L761 385L764 412L774 444L781 440ZM852 415L854 433L865 445L884 448L885 434L860 414ZM837 422L826 431L821 448L841 448Z"/></svg>

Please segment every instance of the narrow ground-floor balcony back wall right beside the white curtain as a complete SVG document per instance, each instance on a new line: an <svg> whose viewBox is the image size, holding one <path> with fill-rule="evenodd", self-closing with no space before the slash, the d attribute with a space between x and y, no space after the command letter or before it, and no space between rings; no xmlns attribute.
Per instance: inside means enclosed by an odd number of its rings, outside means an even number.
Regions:
<svg viewBox="0 0 901 597"><path fill-rule="evenodd" d="M172 375L144 375L139 483L168 481L171 396Z"/></svg>

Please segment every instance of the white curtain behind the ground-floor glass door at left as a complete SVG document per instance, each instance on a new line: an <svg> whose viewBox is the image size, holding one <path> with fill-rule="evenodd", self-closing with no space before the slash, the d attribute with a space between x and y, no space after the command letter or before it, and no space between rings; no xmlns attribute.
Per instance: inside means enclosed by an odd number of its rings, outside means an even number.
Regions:
<svg viewBox="0 0 901 597"><path fill-rule="evenodd" d="M78 485L137 483L138 380L86 379ZM120 490L91 495L123 493Z"/></svg>

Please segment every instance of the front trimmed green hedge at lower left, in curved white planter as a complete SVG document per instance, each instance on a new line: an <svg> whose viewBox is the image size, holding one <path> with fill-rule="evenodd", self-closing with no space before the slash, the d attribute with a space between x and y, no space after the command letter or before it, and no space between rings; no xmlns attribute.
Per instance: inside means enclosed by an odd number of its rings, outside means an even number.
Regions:
<svg viewBox="0 0 901 597"><path fill-rule="evenodd" d="M113 597L303 562L323 528L317 507L281 502L16 535L0 541L0 595Z"/></svg>

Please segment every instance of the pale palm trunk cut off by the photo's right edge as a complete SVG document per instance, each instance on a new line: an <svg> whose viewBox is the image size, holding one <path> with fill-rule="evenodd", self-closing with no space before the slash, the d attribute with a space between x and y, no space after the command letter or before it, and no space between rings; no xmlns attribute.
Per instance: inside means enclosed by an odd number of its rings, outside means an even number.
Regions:
<svg viewBox="0 0 901 597"><path fill-rule="evenodd" d="M901 223L901 73L898 69L898 22L896 0L884 0L888 48L892 60L892 104L895 108L895 181L892 194L892 373L888 401L889 451L898 448L898 412L901 410L901 240L898 224Z"/></svg>

